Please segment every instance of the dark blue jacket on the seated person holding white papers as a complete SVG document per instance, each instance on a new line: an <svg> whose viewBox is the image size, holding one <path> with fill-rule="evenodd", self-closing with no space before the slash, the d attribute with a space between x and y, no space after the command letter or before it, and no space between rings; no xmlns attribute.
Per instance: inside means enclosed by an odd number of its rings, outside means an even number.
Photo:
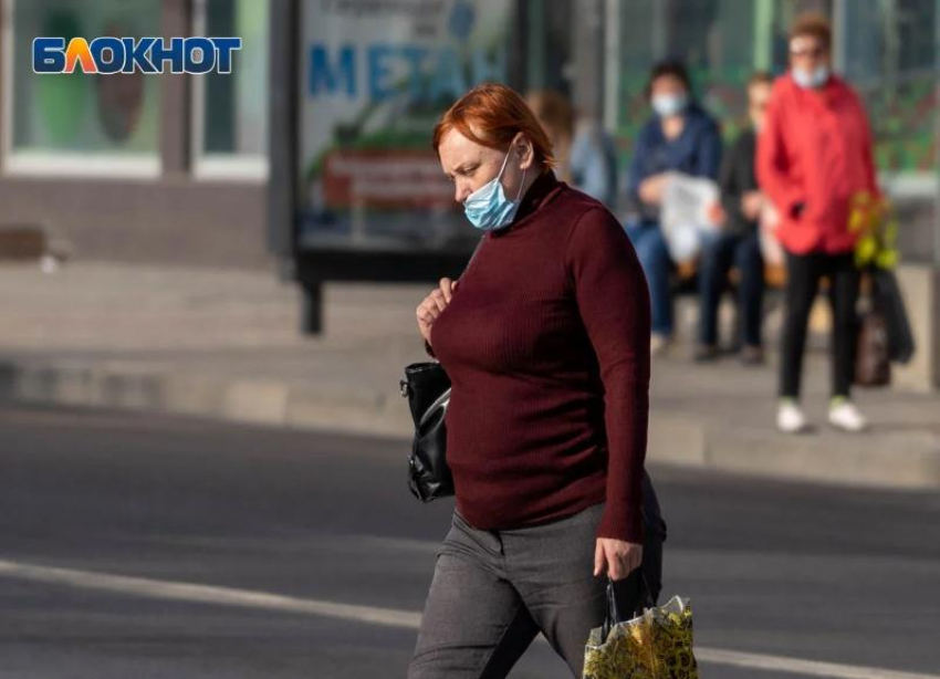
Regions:
<svg viewBox="0 0 940 679"><path fill-rule="evenodd" d="M637 136L627 171L628 211L640 221L658 221L659 208L639 199L639 185L645 179L670 170L718 179L720 164L721 133L718 123L704 108L696 103L689 104L686 127L672 140L662 134L659 118L651 117Z"/></svg>

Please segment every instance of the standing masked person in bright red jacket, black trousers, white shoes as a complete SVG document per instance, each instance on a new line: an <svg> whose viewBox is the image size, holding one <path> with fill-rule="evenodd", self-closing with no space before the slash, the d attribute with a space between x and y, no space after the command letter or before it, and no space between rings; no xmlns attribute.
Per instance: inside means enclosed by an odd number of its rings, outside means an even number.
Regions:
<svg viewBox="0 0 940 679"><path fill-rule="evenodd" d="M829 422L860 431L850 400L860 274L849 213L860 195L876 196L871 133L855 92L832 73L832 32L823 17L797 20L790 34L790 72L774 83L758 140L758 182L781 215L786 251L786 316L781 347L777 427L803 431L800 382L810 310L822 278L833 306Z"/></svg>

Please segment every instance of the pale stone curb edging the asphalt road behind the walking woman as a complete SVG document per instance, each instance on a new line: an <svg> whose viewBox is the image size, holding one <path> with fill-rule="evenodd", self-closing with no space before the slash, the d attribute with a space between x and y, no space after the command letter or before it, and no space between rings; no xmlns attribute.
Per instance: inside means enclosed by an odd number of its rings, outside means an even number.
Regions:
<svg viewBox="0 0 940 679"><path fill-rule="evenodd" d="M387 394L369 394L348 386L300 387L278 380L155 373L133 364L88 367L7 361L0 363L0 399L196 416L403 441L412 432L408 409L394 387ZM758 428L721 428L699 416L654 412L648 459L654 464L767 479L940 489L940 437L929 431L794 437Z"/></svg>

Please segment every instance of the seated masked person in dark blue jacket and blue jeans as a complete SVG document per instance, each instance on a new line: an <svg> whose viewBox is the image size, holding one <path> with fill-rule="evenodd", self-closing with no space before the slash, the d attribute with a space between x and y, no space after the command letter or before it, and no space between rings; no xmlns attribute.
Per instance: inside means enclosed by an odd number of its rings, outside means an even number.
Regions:
<svg viewBox="0 0 940 679"><path fill-rule="evenodd" d="M717 179L721 163L719 126L693 101L691 92L691 81L681 62L667 60L654 66L647 85L654 116L637 136L627 174L627 234L649 282L654 354L668 346L673 330L671 260L659 228L667 175L682 173Z"/></svg>

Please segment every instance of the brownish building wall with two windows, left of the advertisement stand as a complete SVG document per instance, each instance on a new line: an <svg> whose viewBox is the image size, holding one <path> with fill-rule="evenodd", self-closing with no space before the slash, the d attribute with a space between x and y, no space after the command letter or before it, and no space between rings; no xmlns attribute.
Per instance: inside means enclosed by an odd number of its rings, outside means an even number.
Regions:
<svg viewBox="0 0 940 679"><path fill-rule="evenodd" d="M0 0L0 227L75 258L264 267L269 0ZM240 35L228 75L35 75L39 35Z"/></svg>

